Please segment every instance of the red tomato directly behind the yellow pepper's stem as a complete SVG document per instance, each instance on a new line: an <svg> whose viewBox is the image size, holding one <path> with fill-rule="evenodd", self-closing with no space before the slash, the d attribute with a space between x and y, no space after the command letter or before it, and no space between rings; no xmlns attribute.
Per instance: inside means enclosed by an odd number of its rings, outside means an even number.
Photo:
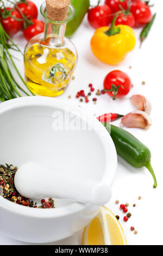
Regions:
<svg viewBox="0 0 163 256"><path fill-rule="evenodd" d="M118 17L115 21L115 25L127 25L131 28L133 28L135 26L135 19L133 14L124 14L124 13L120 13L118 14Z"/></svg>

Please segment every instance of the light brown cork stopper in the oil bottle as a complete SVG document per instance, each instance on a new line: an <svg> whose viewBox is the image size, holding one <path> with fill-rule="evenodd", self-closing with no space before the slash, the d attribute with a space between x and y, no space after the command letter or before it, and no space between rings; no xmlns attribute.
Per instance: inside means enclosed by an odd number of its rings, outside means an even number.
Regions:
<svg viewBox="0 0 163 256"><path fill-rule="evenodd" d="M70 0L46 0L47 17L53 21L64 21Z"/></svg>

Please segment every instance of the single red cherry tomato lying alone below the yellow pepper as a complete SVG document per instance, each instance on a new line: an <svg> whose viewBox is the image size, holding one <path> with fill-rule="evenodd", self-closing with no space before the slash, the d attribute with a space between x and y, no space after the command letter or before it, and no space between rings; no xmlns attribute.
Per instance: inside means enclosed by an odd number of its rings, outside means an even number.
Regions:
<svg viewBox="0 0 163 256"><path fill-rule="evenodd" d="M104 79L105 92L108 93L113 100L124 97L130 92L131 88L132 84L129 76L120 70L111 71ZM106 90L109 91L107 92Z"/></svg>

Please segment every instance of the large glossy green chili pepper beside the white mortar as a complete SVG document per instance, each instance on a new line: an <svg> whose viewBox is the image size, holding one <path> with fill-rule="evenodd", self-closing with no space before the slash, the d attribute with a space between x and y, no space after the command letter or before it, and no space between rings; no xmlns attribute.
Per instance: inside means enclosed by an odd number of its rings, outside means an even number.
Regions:
<svg viewBox="0 0 163 256"><path fill-rule="evenodd" d="M111 131L110 136L115 144L117 154L134 167L141 168L145 166L152 174L154 187L156 187L157 182L151 166L151 151L126 130L114 125L102 124L108 132Z"/></svg>

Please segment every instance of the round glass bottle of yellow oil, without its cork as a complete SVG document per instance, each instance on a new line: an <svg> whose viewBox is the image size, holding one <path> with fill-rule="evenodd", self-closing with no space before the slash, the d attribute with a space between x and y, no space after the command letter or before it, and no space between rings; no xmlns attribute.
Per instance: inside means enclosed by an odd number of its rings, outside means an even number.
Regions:
<svg viewBox="0 0 163 256"><path fill-rule="evenodd" d="M34 94L54 97L64 92L77 64L76 47L64 36L74 9L70 4L65 21L48 19L46 3L41 5L40 11L45 18L45 31L34 36L25 48L25 75Z"/></svg>

